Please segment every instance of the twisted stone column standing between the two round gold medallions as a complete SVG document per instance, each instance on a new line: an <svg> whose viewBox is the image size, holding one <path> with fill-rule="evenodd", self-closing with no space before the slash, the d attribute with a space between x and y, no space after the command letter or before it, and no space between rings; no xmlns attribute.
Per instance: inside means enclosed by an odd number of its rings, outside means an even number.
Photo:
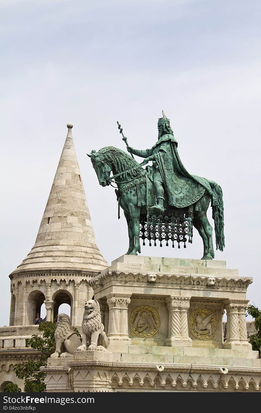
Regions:
<svg viewBox="0 0 261 413"><path fill-rule="evenodd" d="M192 347L192 339L188 337L188 309L190 297L167 297L169 311L169 335L166 346Z"/></svg>

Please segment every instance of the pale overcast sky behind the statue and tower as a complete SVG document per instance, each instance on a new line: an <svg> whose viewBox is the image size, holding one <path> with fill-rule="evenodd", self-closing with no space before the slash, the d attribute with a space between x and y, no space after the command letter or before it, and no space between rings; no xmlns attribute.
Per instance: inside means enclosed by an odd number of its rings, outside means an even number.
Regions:
<svg viewBox="0 0 261 413"><path fill-rule="evenodd" d="M9 324L8 275L35 242L61 150L73 140L96 242L108 262L128 249L113 188L99 186L86 152L155 144L170 118L192 174L223 189L225 241L216 259L252 276L261 307L261 2L243 0L1 0L1 308ZM141 161L140 158L136 158ZM209 219L214 226L209 212ZM143 255L201 258L183 249Z"/></svg>

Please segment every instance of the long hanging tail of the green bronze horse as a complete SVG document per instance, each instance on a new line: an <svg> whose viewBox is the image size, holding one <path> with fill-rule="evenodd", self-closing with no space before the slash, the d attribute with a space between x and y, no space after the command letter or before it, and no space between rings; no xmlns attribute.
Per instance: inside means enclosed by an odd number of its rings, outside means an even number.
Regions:
<svg viewBox="0 0 261 413"><path fill-rule="evenodd" d="M216 182L209 181L209 185L212 189L211 206L215 224L216 249L223 251L225 248L223 192Z"/></svg>

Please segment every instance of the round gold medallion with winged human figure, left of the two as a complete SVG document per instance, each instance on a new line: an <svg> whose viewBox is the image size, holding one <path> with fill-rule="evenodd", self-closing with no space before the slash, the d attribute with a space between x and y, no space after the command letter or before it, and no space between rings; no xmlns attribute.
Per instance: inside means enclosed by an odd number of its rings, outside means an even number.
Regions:
<svg viewBox="0 0 261 413"><path fill-rule="evenodd" d="M132 333L138 337L153 337L160 327L158 311L150 306L134 308L129 321Z"/></svg>

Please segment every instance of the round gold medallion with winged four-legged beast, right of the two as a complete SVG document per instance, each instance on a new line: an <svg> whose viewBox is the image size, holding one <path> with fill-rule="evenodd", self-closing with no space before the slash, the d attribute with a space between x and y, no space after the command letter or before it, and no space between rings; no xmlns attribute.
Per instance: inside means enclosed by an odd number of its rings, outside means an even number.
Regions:
<svg viewBox="0 0 261 413"><path fill-rule="evenodd" d="M189 317L190 333L199 340L210 340L216 334L218 321L209 309L195 309Z"/></svg>

